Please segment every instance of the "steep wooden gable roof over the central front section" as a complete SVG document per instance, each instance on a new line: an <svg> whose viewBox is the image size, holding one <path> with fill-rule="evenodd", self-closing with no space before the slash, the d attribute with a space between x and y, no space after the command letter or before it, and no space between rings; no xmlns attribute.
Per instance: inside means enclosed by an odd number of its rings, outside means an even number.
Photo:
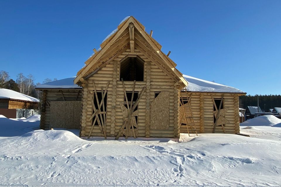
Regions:
<svg viewBox="0 0 281 187"><path fill-rule="evenodd" d="M156 57L157 59L153 60L156 65L163 66L164 71L169 72L167 73L168 75L172 74L177 80L181 80L181 82L187 86L188 83L182 77L182 74L175 68L177 64L161 51L162 46L147 32L145 32L145 27L133 16L130 16L124 22L121 22L118 25L117 30L114 30L114 32L112 32L109 37L102 42L100 45L101 50L97 51L85 62L85 66L78 71L77 76L74 79L74 83L78 83L80 78L84 78L90 73L98 71L101 67L104 67L102 65L109 63L121 53L126 51L126 49L129 49L129 24L133 24L134 27L136 39L135 47L138 47L140 51L144 51L144 55L148 55L154 59ZM148 45L142 46L143 42ZM147 54L146 52L150 54Z"/></svg>

